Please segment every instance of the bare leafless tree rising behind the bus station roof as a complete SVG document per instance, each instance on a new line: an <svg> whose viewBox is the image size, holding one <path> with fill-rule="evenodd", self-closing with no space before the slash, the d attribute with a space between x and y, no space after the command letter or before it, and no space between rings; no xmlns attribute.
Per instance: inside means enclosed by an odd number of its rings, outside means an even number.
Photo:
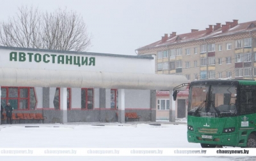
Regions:
<svg viewBox="0 0 256 161"><path fill-rule="evenodd" d="M83 17L73 11L41 13L33 6L22 6L16 17L0 23L2 46L86 51L91 39Z"/></svg>

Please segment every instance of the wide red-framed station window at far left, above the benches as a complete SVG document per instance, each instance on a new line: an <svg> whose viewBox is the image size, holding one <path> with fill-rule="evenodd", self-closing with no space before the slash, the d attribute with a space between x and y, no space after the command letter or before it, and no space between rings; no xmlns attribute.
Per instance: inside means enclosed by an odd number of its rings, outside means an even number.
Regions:
<svg viewBox="0 0 256 161"><path fill-rule="evenodd" d="M10 102L13 109L35 109L36 95L33 87L1 87L1 105Z"/></svg>

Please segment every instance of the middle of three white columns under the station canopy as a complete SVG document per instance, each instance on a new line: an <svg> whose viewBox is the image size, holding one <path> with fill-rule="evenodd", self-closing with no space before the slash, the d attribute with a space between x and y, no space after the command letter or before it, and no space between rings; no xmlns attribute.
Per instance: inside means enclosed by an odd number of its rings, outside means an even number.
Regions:
<svg viewBox="0 0 256 161"><path fill-rule="evenodd" d="M125 93L124 89L118 89L118 122L125 122Z"/></svg>

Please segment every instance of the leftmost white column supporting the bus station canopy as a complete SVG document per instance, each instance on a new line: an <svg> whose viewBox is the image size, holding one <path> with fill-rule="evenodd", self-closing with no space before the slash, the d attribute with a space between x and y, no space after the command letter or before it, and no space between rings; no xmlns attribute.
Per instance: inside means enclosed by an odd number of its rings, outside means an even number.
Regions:
<svg viewBox="0 0 256 161"><path fill-rule="evenodd" d="M67 123L67 88L60 88L61 123Z"/></svg>

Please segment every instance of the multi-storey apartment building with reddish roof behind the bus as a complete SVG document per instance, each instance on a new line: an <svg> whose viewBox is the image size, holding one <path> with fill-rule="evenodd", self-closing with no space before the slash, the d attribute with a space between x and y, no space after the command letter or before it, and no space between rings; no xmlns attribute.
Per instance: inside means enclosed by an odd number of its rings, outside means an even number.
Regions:
<svg viewBox="0 0 256 161"><path fill-rule="evenodd" d="M255 38L256 20L241 24L232 20L209 25L203 31L164 34L136 51L138 55L156 55L157 74L184 75L188 81L256 79Z"/></svg>

